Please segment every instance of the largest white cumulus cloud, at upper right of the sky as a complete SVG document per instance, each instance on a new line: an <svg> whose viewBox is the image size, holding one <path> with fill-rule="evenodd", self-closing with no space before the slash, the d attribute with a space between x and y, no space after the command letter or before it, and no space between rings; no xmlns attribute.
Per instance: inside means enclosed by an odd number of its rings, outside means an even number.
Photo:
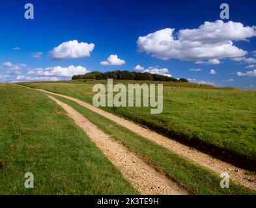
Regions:
<svg viewBox="0 0 256 208"><path fill-rule="evenodd" d="M242 23L222 20L206 21L197 29L183 29L175 34L175 29L166 28L147 36L140 36L137 47L152 57L168 60L214 60L244 57L248 52L239 49L233 42L248 40L256 36L256 27L245 27Z"/></svg>

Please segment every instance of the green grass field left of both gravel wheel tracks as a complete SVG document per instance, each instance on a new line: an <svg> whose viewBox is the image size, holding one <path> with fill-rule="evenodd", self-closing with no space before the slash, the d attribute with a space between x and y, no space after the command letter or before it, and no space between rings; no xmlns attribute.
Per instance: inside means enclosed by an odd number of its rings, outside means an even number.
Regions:
<svg viewBox="0 0 256 208"><path fill-rule="evenodd" d="M0 195L139 194L44 94L0 84L0 115Z"/></svg>

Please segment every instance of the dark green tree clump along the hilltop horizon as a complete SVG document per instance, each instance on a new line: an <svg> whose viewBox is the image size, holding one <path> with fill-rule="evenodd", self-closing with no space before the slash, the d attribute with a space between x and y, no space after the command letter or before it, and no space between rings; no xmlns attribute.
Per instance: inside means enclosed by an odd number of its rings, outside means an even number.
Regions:
<svg viewBox="0 0 256 208"><path fill-rule="evenodd" d="M165 75L159 75L156 73L149 72L129 72L129 71L113 71L113 72L89 72L84 75L74 75L72 80L74 79L96 79L96 80L104 80L104 79L121 79L121 80L143 80L143 81L173 81L173 82L181 82L188 83L188 79L180 78L176 79L174 77L168 77Z"/></svg>

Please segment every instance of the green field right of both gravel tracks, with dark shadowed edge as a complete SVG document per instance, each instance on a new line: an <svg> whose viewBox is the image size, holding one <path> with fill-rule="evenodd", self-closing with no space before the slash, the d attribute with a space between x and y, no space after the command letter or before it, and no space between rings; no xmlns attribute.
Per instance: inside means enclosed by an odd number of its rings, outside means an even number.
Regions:
<svg viewBox="0 0 256 208"><path fill-rule="evenodd" d="M116 81L116 83L131 81ZM92 103L92 86L106 81L23 83ZM135 82L132 83L143 83ZM149 83L149 82L148 82ZM154 82L150 82L154 83ZM104 110L134 120L225 161L251 167L256 161L256 92L193 83L164 83L164 110L121 107ZM229 158L230 157L230 158ZM250 162L244 162L244 161Z"/></svg>

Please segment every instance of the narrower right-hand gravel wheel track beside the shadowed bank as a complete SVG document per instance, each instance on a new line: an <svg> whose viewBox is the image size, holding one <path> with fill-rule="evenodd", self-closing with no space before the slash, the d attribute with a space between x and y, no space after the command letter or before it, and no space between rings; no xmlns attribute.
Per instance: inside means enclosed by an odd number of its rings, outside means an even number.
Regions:
<svg viewBox="0 0 256 208"><path fill-rule="evenodd" d="M208 168L208 169L216 172L216 174L219 174L219 175L223 172L227 172L229 174L230 179L234 183L236 183L238 185L242 185L244 187L251 188L252 190L256 190L255 175L247 175L246 170L244 170L242 168L237 168L236 166L233 166L232 164L220 161L219 159L216 159L214 157L210 157L209 155L202 153L201 151L198 151L197 149L193 149L188 146L185 146L184 144L180 144L179 142L177 142L175 140L171 140L171 138L160 135L160 134L158 134L154 131L151 131L145 127L141 127L140 125L137 125L134 122L125 120L124 118L115 116L115 115L113 115L109 112L106 112L104 110L98 109L98 108L90 105L89 103L86 103L79 99L72 98L70 96L64 96L63 94L56 94L53 92L48 92L48 91L42 90L42 89L36 89L36 90L39 90L40 92L60 96L62 98L70 99L70 100L78 103L79 105L81 105L89 110L92 110L93 112L96 112L96 113L108 118L109 120L112 120L113 122L116 122L119 125L122 125L123 127L126 127L130 131L137 133L137 135L148 138L149 140L156 142L156 144L164 146L165 148L169 149L173 153L177 153L178 155L180 155L186 159L189 159L190 161L194 162L195 164L204 166L205 168Z"/></svg>

